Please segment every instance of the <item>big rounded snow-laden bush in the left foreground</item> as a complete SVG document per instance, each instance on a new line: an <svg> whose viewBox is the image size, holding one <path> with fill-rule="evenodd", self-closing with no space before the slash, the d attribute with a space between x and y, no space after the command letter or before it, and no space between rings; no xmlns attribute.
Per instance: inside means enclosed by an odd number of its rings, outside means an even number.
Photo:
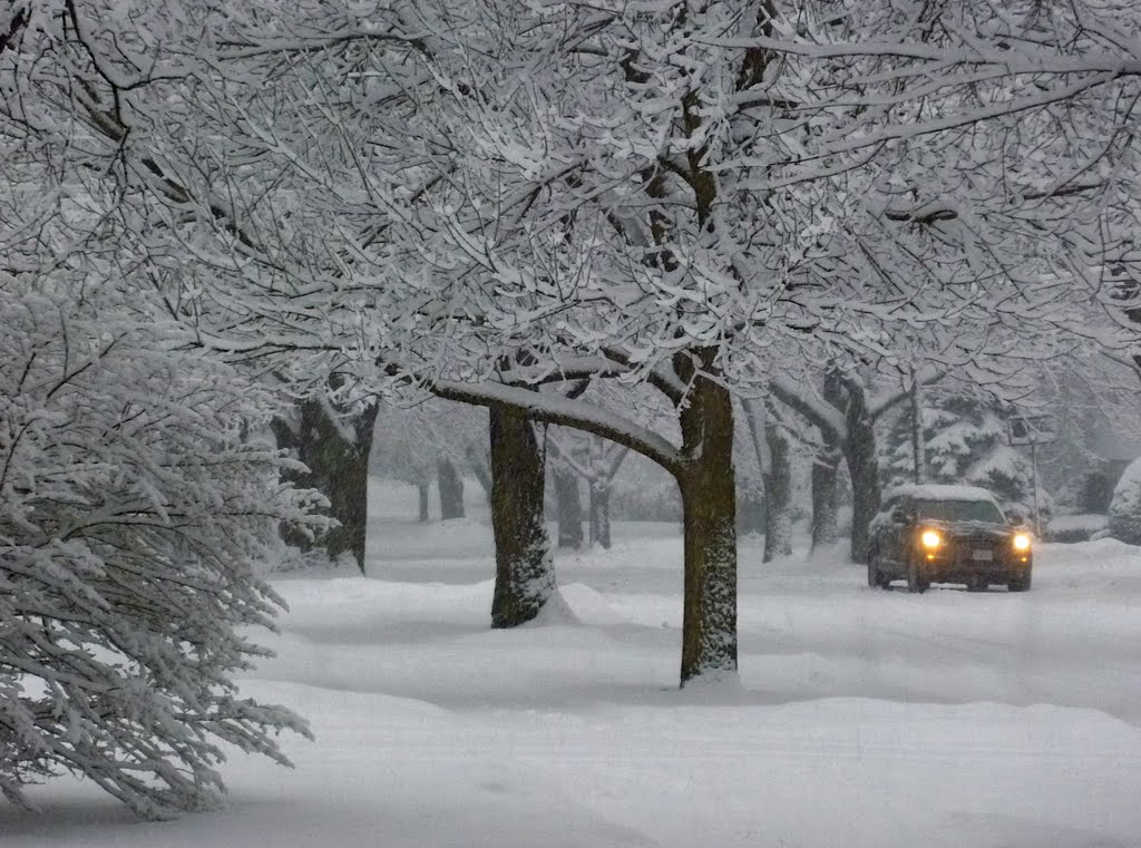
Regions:
<svg viewBox="0 0 1141 848"><path fill-rule="evenodd" d="M273 735L307 733L232 680L306 495L243 436L265 398L240 373L111 284L26 280L0 270L0 790L70 772L147 817L211 806L227 746L288 765Z"/></svg>

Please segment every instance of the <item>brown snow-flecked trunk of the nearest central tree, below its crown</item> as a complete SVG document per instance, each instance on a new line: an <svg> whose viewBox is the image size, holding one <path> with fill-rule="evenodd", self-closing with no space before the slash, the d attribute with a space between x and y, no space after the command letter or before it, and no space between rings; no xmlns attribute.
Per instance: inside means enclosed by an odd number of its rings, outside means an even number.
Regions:
<svg viewBox="0 0 1141 848"><path fill-rule="evenodd" d="M681 685L737 673L737 491L733 463L733 401L723 386L693 375L687 352L678 371L690 382L680 413L683 450L678 473L685 531ZM705 368L713 353L701 350ZM688 373L687 373L688 371Z"/></svg>

